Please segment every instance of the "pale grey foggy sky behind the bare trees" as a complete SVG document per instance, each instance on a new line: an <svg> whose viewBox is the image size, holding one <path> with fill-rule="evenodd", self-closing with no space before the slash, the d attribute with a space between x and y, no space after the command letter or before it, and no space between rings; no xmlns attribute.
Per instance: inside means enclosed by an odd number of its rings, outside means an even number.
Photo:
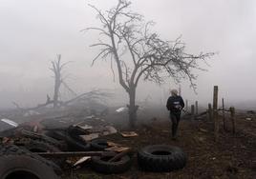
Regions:
<svg viewBox="0 0 256 179"><path fill-rule="evenodd" d="M67 83L77 92L114 89L127 103L124 90L113 81L110 64L98 60L98 49L89 46L98 35L81 32L99 26L96 11L107 10L117 0L1 0L0 1L0 108L17 102L29 107L53 95L53 74L49 70L56 54L66 67ZM181 83L185 99L211 101L218 85L220 97L230 103L256 101L256 1L254 0L132 0L132 9L146 20L156 22L154 30L166 40L181 36L190 53L218 52L209 61L208 71L195 71L197 94L187 81ZM150 96L164 104L168 90L178 88L171 79L157 86L139 83L138 99ZM65 95L65 91L63 91ZM68 95L68 94L67 94Z"/></svg>

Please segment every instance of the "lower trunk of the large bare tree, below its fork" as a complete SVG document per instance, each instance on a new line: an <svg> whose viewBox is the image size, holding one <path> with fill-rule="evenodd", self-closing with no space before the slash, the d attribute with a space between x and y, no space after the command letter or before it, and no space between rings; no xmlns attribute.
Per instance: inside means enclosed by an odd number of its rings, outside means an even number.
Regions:
<svg viewBox="0 0 256 179"><path fill-rule="evenodd" d="M130 89L129 91L129 98L130 98L130 104L128 106L129 109L129 124L131 128L135 127L135 124L137 122L137 110L139 106L135 105L135 99L136 99L136 89Z"/></svg>

